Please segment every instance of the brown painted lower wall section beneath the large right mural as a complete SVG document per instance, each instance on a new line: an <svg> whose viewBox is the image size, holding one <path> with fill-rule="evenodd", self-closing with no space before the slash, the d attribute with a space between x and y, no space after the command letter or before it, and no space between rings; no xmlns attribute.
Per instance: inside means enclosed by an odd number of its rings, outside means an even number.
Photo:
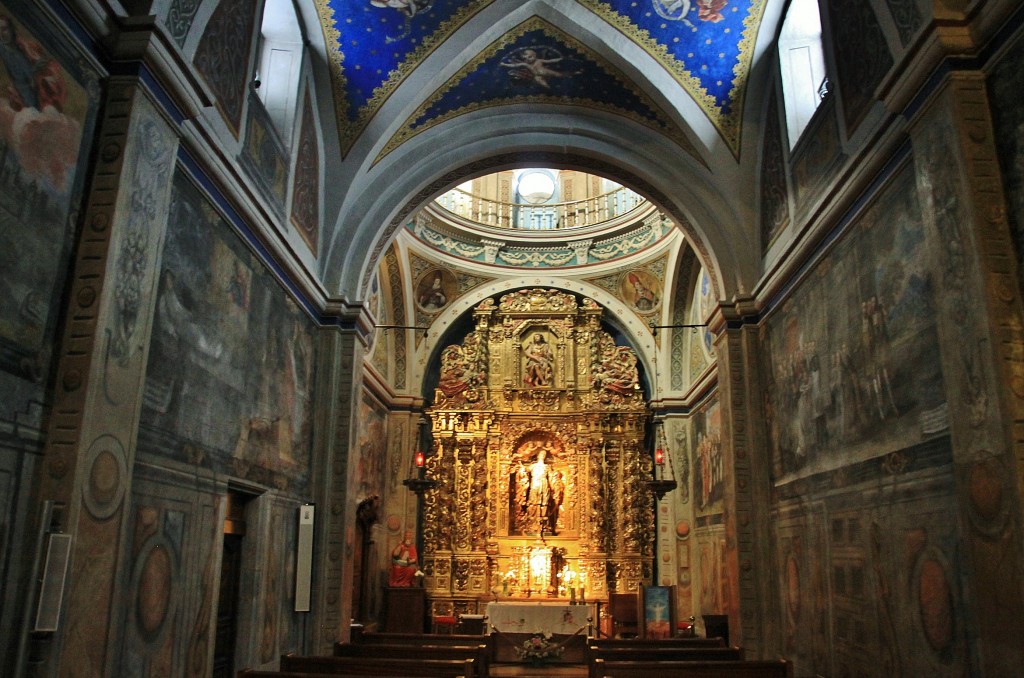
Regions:
<svg viewBox="0 0 1024 678"><path fill-rule="evenodd" d="M943 436L776 486L782 653L797 675L966 675L952 477Z"/></svg>

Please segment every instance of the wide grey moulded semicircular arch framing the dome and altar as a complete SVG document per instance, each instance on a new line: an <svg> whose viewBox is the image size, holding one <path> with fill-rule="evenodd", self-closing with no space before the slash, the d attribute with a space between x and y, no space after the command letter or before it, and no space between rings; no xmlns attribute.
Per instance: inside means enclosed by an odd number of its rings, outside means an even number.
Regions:
<svg viewBox="0 0 1024 678"><path fill-rule="evenodd" d="M561 141L561 147L555 150ZM566 141L573 141L569 147ZM594 143L597 141L597 143ZM385 168L359 190L352 192L338 217L324 261L329 294L361 298L372 272L395 234L426 202L467 177L526 164L548 164L601 174L643 195L678 224L712 278L718 298L752 287L758 253L752 239L738 232L749 222L698 174L660 165L643 153L643 143L624 149L596 137L563 133L513 132L502 138L480 138L466 145L436 152L430 158L411 157L401 170ZM385 224L383 227L381 224Z"/></svg>

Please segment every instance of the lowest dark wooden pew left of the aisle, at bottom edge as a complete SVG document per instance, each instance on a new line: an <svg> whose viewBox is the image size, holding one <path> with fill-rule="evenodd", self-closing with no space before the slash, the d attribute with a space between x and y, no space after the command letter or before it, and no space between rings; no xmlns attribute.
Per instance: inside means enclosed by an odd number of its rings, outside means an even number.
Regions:
<svg viewBox="0 0 1024 678"><path fill-rule="evenodd" d="M417 660L364 656L281 658L282 673L326 675L420 676L422 678L478 678L476 660Z"/></svg>

